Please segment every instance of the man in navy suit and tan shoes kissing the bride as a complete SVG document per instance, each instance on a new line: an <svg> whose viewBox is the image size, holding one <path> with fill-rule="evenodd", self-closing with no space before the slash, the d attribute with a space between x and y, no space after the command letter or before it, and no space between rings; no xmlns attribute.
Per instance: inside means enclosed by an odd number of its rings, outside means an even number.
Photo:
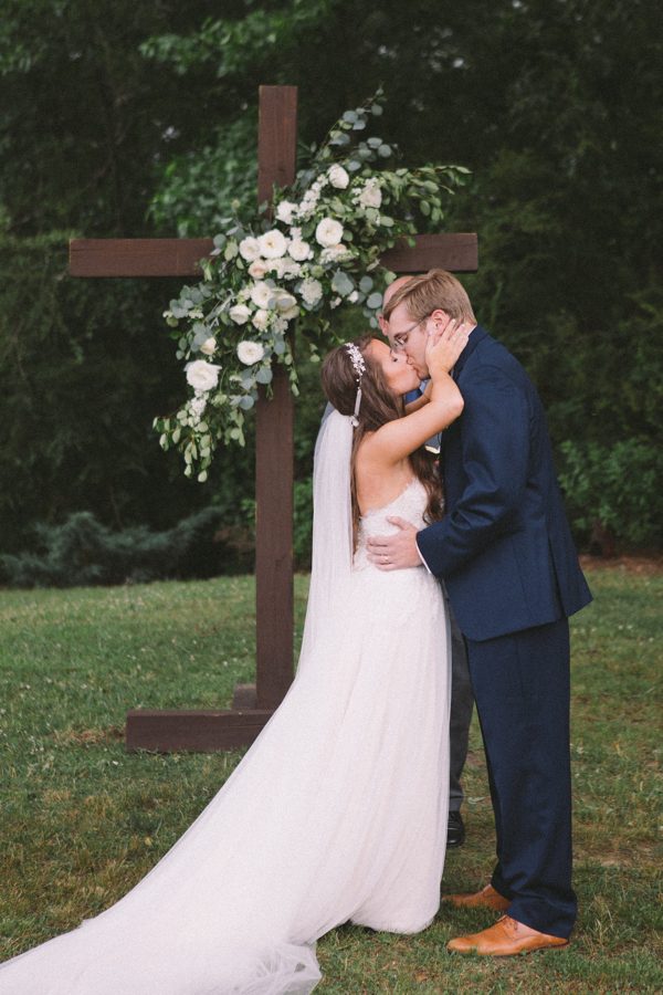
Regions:
<svg viewBox="0 0 663 995"><path fill-rule="evenodd" d="M591 600L555 478L539 397L520 364L476 324L459 281L413 277L385 308L389 339L421 378L425 343L472 324L453 376L461 418L442 437L446 514L369 540L382 569L424 565L446 585L465 636L495 815L497 865L455 905L505 912L449 950L495 956L568 943L571 888L568 616ZM389 565L385 565L386 561Z"/></svg>

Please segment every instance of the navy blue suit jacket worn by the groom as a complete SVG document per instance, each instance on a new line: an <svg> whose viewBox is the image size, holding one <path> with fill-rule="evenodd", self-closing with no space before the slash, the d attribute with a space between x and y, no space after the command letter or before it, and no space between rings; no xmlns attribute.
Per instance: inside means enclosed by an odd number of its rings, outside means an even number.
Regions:
<svg viewBox="0 0 663 995"><path fill-rule="evenodd" d="M475 641L572 615L591 600L527 374L480 325L456 363L465 407L442 434L445 515L417 535Z"/></svg>

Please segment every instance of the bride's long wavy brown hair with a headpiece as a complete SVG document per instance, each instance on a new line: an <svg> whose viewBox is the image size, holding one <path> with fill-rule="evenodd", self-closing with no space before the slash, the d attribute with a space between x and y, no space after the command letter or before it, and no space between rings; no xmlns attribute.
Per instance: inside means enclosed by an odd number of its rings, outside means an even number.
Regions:
<svg viewBox="0 0 663 995"><path fill-rule="evenodd" d="M401 398L396 397L387 384L387 379L379 363L370 357L367 347L370 336L355 339L354 345L360 350L366 364L366 373L361 377L361 406L359 408L359 425L355 429L352 438L352 534L355 545L359 528L359 502L357 501L357 483L355 463L357 450L367 432L375 432L388 421L394 421L404 416L404 406ZM320 370L323 390L329 404L341 415L352 415L357 398L357 374L352 367L349 353L345 345L333 349L323 363ZM410 465L417 478L424 485L428 494L428 503L424 511L424 521L430 524L442 517L442 483L435 460L431 453L421 446L410 453Z"/></svg>

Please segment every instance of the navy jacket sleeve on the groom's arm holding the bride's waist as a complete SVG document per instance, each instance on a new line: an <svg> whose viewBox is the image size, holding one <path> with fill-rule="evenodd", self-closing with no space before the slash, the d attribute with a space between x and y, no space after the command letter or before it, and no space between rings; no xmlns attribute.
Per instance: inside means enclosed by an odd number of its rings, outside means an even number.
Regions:
<svg viewBox="0 0 663 995"><path fill-rule="evenodd" d="M523 389L498 367L482 366L461 390L466 486L441 522L417 535L422 559L439 577L453 574L508 531L527 482L529 417Z"/></svg>

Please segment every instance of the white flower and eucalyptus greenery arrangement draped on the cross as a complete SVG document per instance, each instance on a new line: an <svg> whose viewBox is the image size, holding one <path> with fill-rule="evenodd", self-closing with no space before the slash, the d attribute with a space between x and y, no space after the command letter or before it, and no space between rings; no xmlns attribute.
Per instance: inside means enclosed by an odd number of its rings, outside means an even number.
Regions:
<svg viewBox="0 0 663 995"><path fill-rule="evenodd" d="M336 308L361 307L378 327L382 291L396 275L380 256L438 226L444 197L465 181L462 166L387 168L396 146L369 134L380 98L346 111L293 186L275 189L255 218L228 218L200 263L201 282L182 287L164 313L190 396L154 427L162 449L180 450L187 476L207 480L220 442L244 444L245 415L261 386L270 392L275 362L297 394L295 321L314 359L334 341Z"/></svg>

